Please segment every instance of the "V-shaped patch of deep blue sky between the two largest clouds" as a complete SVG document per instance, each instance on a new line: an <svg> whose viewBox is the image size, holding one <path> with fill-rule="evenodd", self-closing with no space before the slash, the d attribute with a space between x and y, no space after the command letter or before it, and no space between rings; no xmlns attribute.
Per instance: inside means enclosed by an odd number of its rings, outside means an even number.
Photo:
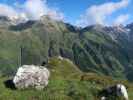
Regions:
<svg viewBox="0 0 133 100"><path fill-rule="evenodd" d="M108 1L119 0L48 0L50 6L59 7L64 12L67 20L75 23L81 14L85 13L85 10L92 5L103 4Z"/></svg>

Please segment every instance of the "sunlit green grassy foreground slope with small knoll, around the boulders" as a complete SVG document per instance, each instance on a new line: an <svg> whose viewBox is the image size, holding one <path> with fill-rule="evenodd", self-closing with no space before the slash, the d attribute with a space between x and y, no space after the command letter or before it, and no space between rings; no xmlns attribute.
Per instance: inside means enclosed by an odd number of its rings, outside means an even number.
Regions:
<svg viewBox="0 0 133 100"><path fill-rule="evenodd" d="M94 73L83 74L68 59L51 58L47 67L51 78L48 87L42 91L11 90L3 84L10 78L1 77L0 100L99 100L99 90L119 82L128 87L129 99L133 98L133 85L127 81L118 81Z"/></svg>

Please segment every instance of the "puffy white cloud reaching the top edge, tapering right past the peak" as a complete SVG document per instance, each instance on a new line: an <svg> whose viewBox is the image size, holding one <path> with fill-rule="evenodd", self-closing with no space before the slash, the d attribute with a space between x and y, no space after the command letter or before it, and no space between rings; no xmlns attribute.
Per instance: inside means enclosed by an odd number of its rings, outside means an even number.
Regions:
<svg viewBox="0 0 133 100"><path fill-rule="evenodd" d="M29 18L35 20L40 19L42 15L48 15L55 20L64 20L64 14L57 8L48 7L46 0L28 0L23 8Z"/></svg>

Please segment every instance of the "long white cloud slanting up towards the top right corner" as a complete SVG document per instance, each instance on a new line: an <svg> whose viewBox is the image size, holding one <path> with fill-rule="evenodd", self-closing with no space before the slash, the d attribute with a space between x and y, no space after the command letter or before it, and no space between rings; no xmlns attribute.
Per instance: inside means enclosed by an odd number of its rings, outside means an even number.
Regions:
<svg viewBox="0 0 133 100"><path fill-rule="evenodd" d="M106 18L121 8L127 7L129 0L121 0L120 2L107 2L101 5L93 5L89 7L84 15L81 15L77 25L86 26L91 24L106 24Z"/></svg>

